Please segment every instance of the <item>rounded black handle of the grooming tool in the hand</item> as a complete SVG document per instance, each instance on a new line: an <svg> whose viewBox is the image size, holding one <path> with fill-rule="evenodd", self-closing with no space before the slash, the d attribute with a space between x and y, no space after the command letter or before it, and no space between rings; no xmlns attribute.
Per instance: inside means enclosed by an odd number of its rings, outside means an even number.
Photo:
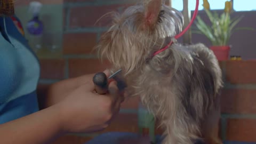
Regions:
<svg viewBox="0 0 256 144"><path fill-rule="evenodd" d="M93 77L95 91L98 94L105 94L108 91L108 78L105 73L97 73Z"/></svg>

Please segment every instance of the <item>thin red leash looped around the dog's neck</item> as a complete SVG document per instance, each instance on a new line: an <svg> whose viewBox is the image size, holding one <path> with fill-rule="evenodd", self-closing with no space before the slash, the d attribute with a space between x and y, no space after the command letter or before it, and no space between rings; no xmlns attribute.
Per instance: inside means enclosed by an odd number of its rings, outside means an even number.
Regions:
<svg viewBox="0 0 256 144"><path fill-rule="evenodd" d="M190 28L190 26L192 25L192 23L193 23L194 20L196 19L196 15L197 15L197 13L198 13L198 5L199 5L199 0L196 0L196 9L195 9L195 12L194 12L194 14L193 14L193 17L192 17L190 23L188 24L188 26L187 26L180 34L174 36L175 39L180 38L182 35L184 35L184 34L188 31L188 29ZM158 53L161 53L161 52L165 51L166 49L168 49L172 44L173 44L173 41L171 41L168 45L166 45L165 47L163 47L163 48L160 49L159 51L155 52L155 53L153 54L153 57L154 57L155 55L157 55Z"/></svg>

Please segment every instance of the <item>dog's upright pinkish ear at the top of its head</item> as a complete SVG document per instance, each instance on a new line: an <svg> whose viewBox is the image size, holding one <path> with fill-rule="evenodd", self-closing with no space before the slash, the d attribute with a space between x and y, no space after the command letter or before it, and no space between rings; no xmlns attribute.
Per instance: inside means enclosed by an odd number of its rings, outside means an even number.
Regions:
<svg viewBox="0 0 256 144"><path fill-rule="evenodd" d="M145 5L145 24L153 26L157 22L159 12L161 11L162 0L151 0Z"/></svg>

